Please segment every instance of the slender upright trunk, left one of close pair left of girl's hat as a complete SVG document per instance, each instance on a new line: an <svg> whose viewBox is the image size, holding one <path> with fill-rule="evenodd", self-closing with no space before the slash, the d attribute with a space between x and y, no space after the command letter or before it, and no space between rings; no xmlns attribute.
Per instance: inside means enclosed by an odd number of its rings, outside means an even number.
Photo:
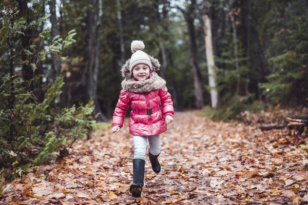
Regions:
<svg viewBox="0 0 308 205"><path fill-rule="evenodd" d="M87 48L87 70L88 70L88 99L93 99L93 64L94 64L94 50L93 50L93 7L95 6L95 0L88 3L88 48Z"/></svg>

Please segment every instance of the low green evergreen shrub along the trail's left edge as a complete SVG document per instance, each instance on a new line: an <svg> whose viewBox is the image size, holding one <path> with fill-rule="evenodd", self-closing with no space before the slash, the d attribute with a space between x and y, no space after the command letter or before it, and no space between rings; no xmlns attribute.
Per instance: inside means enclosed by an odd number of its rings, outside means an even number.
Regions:
<svg viewBox="0 0 308 205"><path fill-rule="evenodd" d="M32 163L57 157L54 151L67 149L73 141L89 134L95 123L91 115L93 101L85 106L64 108L57 115L54 101L63 84L63 77L57 78L45 88L43 102L37 103L32 92L26 91L22 78L3 78L0 87L0 161L4 167L14 168L11 178Z"/></svg>

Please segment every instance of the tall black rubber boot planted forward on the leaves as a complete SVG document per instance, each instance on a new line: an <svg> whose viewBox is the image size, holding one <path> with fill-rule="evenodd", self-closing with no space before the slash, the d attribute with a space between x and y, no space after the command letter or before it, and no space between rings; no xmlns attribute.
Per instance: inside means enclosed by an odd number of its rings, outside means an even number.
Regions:
<svg viewBox="0 0 308 205"><path fill-rule="evenodd" d="M133 171L133 184L130 186L129 191L133 197L141 197L143 179L144 179L144 159L132 160Z"/></svg>

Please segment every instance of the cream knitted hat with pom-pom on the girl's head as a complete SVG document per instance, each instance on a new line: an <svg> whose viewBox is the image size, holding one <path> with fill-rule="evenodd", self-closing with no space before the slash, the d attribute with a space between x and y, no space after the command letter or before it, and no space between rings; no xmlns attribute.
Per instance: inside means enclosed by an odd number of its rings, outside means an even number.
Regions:
<svg viewBox="0 0 308 205"><path fill-rule="evenodd" d="M150 70L152 70L151 60L145 52L142 50L144 49L144 43L141 40L133 40L130 44L130 49L133 54L129 60L129 71L131 72L133 67L138 64L146 64L149 66Z"/></svg>

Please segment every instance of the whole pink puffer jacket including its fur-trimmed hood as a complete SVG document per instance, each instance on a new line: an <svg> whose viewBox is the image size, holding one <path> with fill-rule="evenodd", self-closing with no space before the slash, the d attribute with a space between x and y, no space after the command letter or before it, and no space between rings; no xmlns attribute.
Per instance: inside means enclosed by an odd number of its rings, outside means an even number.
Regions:
<svg viewBox="0 0 308 205"><path fill-rule="evenodd" d="M160 68L159 61L152 56L149 57L152 73L144 81L131 79L131 73L128 71L129 59L122 67L125 79L122 81L123 90L113 113L112 125L122 128L126 110L130 105L132 111L129 133L132 135L149 136L163 133L167 130L165 116L174 115L171 95L165 86L166 81L155 73Z"/></svg>

